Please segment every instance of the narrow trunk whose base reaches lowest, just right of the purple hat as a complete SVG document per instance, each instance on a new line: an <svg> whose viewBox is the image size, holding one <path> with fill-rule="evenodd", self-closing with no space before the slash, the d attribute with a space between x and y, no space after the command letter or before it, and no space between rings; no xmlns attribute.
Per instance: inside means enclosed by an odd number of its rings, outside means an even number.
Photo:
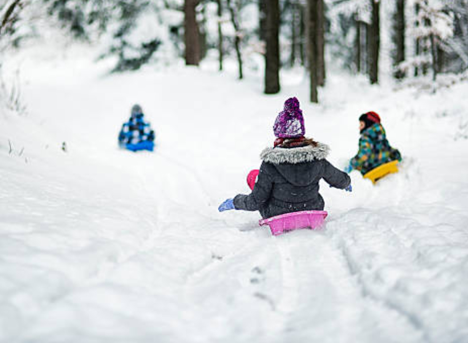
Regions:
<svg viewBox="0 0 468 343"><path fill-rule="evenodd" d="M311 102L318 102L317 7L318 0L307 0L307 55L309 61Z"/></svg>

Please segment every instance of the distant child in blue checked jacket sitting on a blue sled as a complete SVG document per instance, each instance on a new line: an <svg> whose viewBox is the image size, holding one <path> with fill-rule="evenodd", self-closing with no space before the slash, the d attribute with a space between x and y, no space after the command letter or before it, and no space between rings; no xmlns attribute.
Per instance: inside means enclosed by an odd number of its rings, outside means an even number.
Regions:
<svg viewBox="0 0 468 343"><path fill-rule="evenodd" d="M133 105L132 116L127 123L122 125L118 135L119 146L131 151L154 149L154 131L143 118L143 110L140 105Z"/></svg>

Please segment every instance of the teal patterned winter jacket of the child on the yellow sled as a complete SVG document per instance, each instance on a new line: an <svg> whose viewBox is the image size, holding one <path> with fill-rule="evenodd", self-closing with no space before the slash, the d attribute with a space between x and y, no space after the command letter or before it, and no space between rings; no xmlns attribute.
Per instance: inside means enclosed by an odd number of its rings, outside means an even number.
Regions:
<svg viewBox="0 0 468 343"><path fill-rule="evenodd" d="M395 160L402 160L400 152L388 143L383 126L373 124L361 133L358 154L351 159L350 165L364 175L381 164Z"/></svg>

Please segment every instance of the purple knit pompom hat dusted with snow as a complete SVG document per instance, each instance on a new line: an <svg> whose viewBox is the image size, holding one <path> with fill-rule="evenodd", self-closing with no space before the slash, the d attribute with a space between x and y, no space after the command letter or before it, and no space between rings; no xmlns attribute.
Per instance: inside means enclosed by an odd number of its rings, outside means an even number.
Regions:
<svg viewBox="0 0 468 343"><path fill-rule="evenodd" d="M296 97L285 101L285 108L276 117L273 132L278 138L298 138L306 134L304 117Z"/></svg>

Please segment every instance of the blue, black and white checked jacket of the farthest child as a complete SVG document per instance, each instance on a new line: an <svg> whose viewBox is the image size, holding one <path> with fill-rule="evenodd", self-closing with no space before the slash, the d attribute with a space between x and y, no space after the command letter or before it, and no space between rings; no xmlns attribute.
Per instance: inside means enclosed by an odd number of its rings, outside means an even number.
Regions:
<svg viewBox="0 0 468 343"><path fill-rule="evenodd" d="M153 142L154 131L149 123L144 120L143 113L130 117L129 121L122 125L118 141L122 147L128 144L138 144L141 142Z"/></svg>

